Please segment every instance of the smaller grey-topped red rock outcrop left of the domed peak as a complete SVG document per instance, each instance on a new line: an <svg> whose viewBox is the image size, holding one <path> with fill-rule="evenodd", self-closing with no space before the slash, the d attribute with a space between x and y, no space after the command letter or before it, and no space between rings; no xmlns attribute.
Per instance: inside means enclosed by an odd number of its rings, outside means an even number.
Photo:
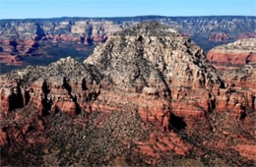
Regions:
<svg viewBox="0 0 256 167"><path fill-rule="evenodd" d="M82 106L79 102L95 98L99 91L97 83L100 75L97 76L93 69L87 71L87 68L69 57L60 59L48 67L29 67L2 76L2 110L8 113L8 111L32 102L36 104L39 115L48 111L61 110L74 116L81 112ZM34 72L37 73L34 74ZM13 81L14 84L5 84L6 79ZM14 91L19 88L18 96ZM13 98L15 100L12 100ZM19 100L22 101L22 105L15 107L14 104Z"/></svg>

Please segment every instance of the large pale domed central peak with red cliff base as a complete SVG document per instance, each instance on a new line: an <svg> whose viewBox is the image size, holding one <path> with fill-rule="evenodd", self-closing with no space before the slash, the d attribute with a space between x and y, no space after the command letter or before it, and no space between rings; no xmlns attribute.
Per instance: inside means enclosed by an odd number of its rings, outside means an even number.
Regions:
<svg viewBox="0 0 256 167"><path fill-rule="evenodd" d="M127 96L138 94L135 100L142 118L160 121L165 129L170 108L181 117L204 118L213 110L212 90L222 83L200 47L176 30L154 23L109 37L85 63L95 65Z"/></svg>

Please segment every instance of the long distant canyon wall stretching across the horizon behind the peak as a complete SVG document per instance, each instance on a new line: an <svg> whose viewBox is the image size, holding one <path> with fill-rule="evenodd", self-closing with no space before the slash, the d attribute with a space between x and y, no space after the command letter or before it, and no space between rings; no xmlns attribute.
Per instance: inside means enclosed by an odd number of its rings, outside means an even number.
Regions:
<svg viewBox="0 0 256 167"><path fill-rule="evenodd" d="M65 35L93 36L94 40L99 40L101 35L109 35L146 21L160 22L195 39L205 37L213 41L235 39L239 35L250 37L255 33L255 17L60 18L2 20L0 39L41 39L47 38L47 35Z"/></svg>

